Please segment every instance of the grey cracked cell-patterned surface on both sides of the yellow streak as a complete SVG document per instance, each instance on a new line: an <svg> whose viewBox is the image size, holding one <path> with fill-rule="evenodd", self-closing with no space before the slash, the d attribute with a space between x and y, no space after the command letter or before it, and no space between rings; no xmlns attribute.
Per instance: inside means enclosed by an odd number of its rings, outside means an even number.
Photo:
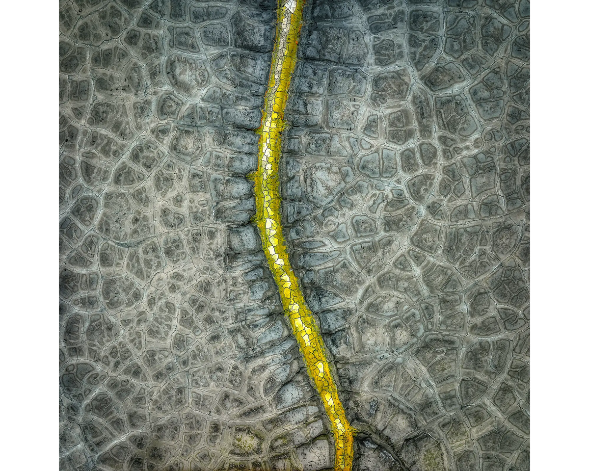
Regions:
<svg viewBox="0 0 589 471"><path fill-rule="evenodd" d="M531 453L531 3L308 1L280 167L355 469ZM58 2L58 468L323 470L250 224L276 2Z"/></svg>

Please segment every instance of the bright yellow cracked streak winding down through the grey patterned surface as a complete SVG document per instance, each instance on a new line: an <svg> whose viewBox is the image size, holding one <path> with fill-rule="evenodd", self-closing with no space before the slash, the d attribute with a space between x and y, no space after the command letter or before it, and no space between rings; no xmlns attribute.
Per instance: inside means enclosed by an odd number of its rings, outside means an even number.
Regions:
<svg viewBox="0 0 589 471"><path fill-rule="evenodd" d="M307 365L307 373L315 384L319 397L332 423L335 437L335 469L351 471L353 457L353 429L344 413L327 361L325 344L315 318L305 303L299 280L294 276L284 245L280 224L280 196L278 162L284 130L284 108L290 77L296 62L297 46L302 25L303 0L279 0L276 42L272 67L264 99L260 135L258 170L252 175L256 195L254 220L260 229L264 253L282 298L284 313L290 320L300 352Z"/></svg>

